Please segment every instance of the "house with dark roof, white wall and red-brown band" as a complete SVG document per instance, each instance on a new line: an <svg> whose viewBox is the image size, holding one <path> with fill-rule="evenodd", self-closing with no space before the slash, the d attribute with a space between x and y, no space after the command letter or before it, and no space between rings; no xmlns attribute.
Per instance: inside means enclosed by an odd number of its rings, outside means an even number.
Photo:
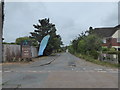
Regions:
<svg viewBox="0 0 120 90"><path fill-rule="evenodd" d="M93 31L103 38L103 46L120 50L120 25L108 28L95 28Z"/></svg>

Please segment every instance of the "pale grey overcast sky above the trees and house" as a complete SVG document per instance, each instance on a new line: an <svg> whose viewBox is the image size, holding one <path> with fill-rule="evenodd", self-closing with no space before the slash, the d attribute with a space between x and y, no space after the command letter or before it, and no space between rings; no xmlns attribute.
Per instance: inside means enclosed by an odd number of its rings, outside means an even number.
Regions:
<svg viewBox="0 0 120 90"><path fill-rule="evenodd" d="M65 45L90 26L118 25L117 2L6 2L3 37L5 42L30 36L39 19L49 18L56 25Z"/></svg>

